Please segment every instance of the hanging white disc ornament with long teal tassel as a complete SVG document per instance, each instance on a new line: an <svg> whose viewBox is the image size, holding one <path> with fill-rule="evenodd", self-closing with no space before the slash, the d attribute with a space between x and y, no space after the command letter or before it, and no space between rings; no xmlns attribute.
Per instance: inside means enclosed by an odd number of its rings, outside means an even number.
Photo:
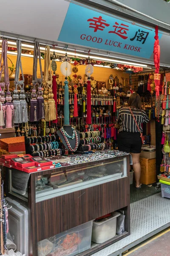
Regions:
<svg viewBox="0 0 170 256"><path fill-rule="evenodd" d="M69 98L68 98L68 76L71 75L71 64L67 60L67 47L65 53L65 61L60 66L61 73L65 76L64 87L64 124L69 125Z"/></svg>

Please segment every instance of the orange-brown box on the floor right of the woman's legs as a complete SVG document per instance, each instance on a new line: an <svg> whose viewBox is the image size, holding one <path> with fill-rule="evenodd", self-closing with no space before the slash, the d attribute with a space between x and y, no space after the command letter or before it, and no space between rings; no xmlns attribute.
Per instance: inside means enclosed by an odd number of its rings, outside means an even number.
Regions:
<svg viewBox="0 0 170 256"><path fill-rule="evenodd" d="M141 183L148 185L156 182L156 158L147 159L140 157Z"/></svg>

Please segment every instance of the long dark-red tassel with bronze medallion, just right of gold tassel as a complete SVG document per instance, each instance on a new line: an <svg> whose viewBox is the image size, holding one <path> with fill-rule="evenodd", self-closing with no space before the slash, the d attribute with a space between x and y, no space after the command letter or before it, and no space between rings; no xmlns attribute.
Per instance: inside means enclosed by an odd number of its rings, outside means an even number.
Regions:
<svg viewBox="0 0 170 256"><path fill-rule="evenodd" d="M57 59L57 56L55 54L55 52L53 52L53 60L51 62L51 69L53 70L53 95L54 95L54 101L55 101L55 105L56 105L56 119L53 120L53 123L57 123L58 119L57 119L57 76L56 76L56 70L57 70L57 64L55 59Z"/></svg>

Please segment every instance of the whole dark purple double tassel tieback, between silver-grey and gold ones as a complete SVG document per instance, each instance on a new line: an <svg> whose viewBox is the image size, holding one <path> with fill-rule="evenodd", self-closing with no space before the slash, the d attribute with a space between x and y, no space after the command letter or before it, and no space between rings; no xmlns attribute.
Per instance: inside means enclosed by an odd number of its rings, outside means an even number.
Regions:
<svg viewBox="0 0 170 256"><path fill-rule="evenodd" d="M37 79L37 63L39 58L40 64L40 75L41 78ZM40 44L38 42L34 43L34 63L33 63L33 90L32 90L32 99L31 99L31 108L30 108L30 118L31 120L38 121L43 119L44 116L44 98L43 98L43 91L42 91L42 66L41 66L41 54L40 54ZM37 96L36 93L36 86L38 87ZM33 122L33 121L32 121Z"/></svg>

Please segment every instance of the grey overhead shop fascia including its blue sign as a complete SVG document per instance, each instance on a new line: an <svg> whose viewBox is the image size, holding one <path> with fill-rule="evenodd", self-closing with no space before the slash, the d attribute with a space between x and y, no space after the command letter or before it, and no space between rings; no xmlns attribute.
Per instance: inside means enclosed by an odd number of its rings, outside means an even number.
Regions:
<svg viewBox="0 0 170 256"><path fill-rule="evenodd" d="M13 5L12 0L1 3L1 10L8 9L8 16L5 11L0 15L1 37L37 40L62 49L67 44L86 54L91 49L108 58L153 64L154 27L65 0L30 0L31 9L22 0L9 9L10 2ZM170 36L159 32L159 39L161 66L169 67Z"/></svg>

